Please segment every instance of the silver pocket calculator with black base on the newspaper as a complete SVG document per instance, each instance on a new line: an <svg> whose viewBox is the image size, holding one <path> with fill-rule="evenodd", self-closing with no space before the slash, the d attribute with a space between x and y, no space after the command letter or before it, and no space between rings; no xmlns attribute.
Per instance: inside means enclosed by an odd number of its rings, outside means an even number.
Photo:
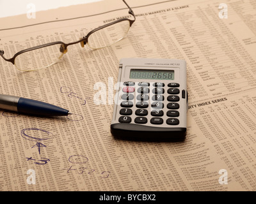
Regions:
<svg viewBox="0 0 256 204"><path fill-rule="evenodd" d="M186 61L120 59L111 134L116 138L184 140Z"/></svg>

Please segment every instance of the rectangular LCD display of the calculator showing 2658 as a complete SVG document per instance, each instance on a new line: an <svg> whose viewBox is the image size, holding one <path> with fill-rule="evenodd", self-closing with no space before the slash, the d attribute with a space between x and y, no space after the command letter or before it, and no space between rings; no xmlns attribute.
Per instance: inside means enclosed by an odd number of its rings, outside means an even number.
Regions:
<svg viewBox="0 0 256 204"><path fill-rule="evenodd" d="M174 70L131 69L130 78L174 80Z"/></svg>

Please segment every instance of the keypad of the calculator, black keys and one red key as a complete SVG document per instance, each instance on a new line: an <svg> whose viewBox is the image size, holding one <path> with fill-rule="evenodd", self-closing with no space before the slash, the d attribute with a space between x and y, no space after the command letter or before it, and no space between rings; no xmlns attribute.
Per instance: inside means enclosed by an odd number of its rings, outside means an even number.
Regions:
<svg viewBox="0 0 256 204"><path fill-rule="evenodd" d="M163 82L151 85L149 82L124 82L123 85L119 122L168 126L180 123L179 84L169 83L165 87Z"/></svg>

